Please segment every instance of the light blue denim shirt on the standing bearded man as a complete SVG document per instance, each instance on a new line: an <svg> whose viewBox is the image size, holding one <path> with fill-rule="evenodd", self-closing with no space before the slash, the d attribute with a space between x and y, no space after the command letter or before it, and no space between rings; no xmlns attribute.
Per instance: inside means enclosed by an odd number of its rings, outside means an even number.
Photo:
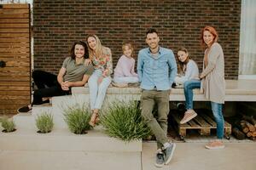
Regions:
<svg viewBox="0 0 256 170"><path fill-rule="evenodd" d="M161 48L156 57L149 48L139 51L137 73L141 88L146 90L168 90L177 75L177 64L171 49Z"/></svg>

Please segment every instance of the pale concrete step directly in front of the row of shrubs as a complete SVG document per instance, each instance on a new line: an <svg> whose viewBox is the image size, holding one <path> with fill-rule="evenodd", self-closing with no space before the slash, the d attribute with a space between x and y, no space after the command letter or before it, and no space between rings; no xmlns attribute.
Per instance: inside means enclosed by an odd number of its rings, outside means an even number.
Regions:
<svg viewBox="0 0 256 170"><path fill-rule="evenodd" d="M54 129L44 134L33 129L17 129L13 133L0 133L0 150L141 152L142 141L125 143L108 137L100 127L83 135L67 129Z"/></svg>

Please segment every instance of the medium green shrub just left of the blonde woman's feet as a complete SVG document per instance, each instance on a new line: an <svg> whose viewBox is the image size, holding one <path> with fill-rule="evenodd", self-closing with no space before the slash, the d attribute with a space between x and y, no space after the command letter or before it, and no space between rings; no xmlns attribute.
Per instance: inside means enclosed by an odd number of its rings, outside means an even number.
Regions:
<svg viewBox="0 0 256 170"><path fill-rule="evenodd" d="M64 120L72 133L84 134L90 129L90 110L85 105L73 105L64 110Z"/></svg>

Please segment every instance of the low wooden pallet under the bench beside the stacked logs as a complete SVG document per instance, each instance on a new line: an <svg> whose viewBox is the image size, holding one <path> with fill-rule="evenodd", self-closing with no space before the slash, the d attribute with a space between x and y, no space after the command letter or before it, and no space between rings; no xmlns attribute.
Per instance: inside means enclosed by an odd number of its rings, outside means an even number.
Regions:
<svg viewBox="0 0 256 170"><path fill-rule="evenodd" d="M186 136L187 130L189 129L198 130L201 135L210 135L211 129L217 128L216 122L213 120L212 116L208 116L207 114L198 114L194 119L184 124L179 123L183 118L183 114L173 113L172 117L177 124L178 134L182 139ZM224 122L224 136L229 138L230 134L231 125L228 122Z"/></svg>

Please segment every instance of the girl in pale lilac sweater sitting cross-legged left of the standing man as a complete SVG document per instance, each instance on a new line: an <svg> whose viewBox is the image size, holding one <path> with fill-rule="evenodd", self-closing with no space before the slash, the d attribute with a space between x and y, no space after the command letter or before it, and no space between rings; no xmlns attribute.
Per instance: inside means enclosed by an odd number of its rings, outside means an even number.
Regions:
<svg viewBox="0 0 256 170"><path fill-rule="evenodd" d="M138 76L134 71L135 59L132 58L133 47L130 42L122 46L123 55L114 69L113 86L118 88L128 87L128 83L137 83Z"/></svg>

